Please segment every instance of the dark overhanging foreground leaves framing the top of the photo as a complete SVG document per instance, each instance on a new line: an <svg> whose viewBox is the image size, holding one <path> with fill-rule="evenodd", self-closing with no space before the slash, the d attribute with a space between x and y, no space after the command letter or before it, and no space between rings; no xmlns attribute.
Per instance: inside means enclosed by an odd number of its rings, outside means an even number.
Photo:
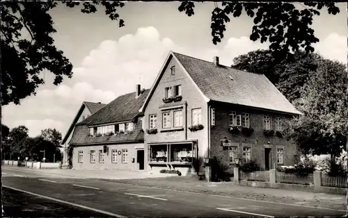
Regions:
<svg viewBox="0 0 348 218"><path fill-rule="evenodd" d="M78 1L63 1L65 6L74 8L80 6ZM239 17L242 11L253 18L254 26L250 39L260 42L271 42L269 49L274 57L291 56L290 51L300 48L310 53L314 51L313 43L319 42L314 30L310 28L314 15L320 15L322 8L327 8L329 14L335 15L340 10L335 3L299 3L303 6L298 10L292 3L240 3L223 2L222 7L212 11L213 43L221 42L226 31L226 23L230 15ZM50 36L56 30L49 10L55 8L56 1L4 1L1 3L1 105L19 104L21 99L35 94L38 85L45 81L40 74L45 70L55 75L54 84L63 81L63 76L72 77L72 65L63 51L54 46ZM82 3L81 12L93 13L102 7L110 19L124 26L117 9L125 3L116 1L86 1ZM184 1L178 10L187 15L194 15L194 3ZM29 35L29 38L24 37ZM25 34L26 33L26 34Z"/></svg>

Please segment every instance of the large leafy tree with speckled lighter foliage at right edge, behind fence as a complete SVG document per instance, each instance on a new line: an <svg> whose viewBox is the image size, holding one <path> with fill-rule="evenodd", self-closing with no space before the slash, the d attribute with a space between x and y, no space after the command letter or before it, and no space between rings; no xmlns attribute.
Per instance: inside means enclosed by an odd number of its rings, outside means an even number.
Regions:
<svg viewBox="0 0 348 218"><path fill-rule="evenodd" d="M330 154L334 161L347 151L347 83L345 65L322 60L301 90L296 105L303 116L295 119L291 138L303 153Z"/></svg>

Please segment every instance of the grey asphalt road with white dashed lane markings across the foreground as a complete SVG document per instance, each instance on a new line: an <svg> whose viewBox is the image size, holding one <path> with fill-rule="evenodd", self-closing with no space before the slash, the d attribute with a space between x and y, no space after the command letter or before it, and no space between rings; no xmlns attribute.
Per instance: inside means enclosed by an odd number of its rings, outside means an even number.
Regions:
<svg viewBox="0 0 348 218"><path fill-rule="evenodd" d="M3 169L4 187L115 217L342 217L343 210L232 199ZM5 193L6 194L6 193Z"/></svg>

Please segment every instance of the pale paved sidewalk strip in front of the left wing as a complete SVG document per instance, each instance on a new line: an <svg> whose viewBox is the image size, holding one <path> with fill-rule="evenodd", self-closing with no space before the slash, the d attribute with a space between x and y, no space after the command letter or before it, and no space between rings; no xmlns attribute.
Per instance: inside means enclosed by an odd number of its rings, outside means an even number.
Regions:
<svg viewBox="0 0 348 218"><path fill-rule="evenodd" d="M3 169L13 169L18 171L31 171L39 174L52 174L61 177L74 178L104 178L111 180L135 179L135 178L161 178L177 176L176 174L153 174L151 171L129 171L129 170L84 170L84 169L31 169L25 167L1 166Z"/></svg>

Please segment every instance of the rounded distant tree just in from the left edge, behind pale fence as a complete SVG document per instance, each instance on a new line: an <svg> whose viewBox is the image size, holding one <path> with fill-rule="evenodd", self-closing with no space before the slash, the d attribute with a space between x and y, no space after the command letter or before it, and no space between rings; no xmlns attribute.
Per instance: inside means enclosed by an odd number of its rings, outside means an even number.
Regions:
<svg viewBox="0 0 348 218"><path fill-rule="evenodd" d="M18 126L11 129L8 135L8 153L17 156L25 156L28 154L26 139L29 137L28 128L26 126Z"/></svg>

